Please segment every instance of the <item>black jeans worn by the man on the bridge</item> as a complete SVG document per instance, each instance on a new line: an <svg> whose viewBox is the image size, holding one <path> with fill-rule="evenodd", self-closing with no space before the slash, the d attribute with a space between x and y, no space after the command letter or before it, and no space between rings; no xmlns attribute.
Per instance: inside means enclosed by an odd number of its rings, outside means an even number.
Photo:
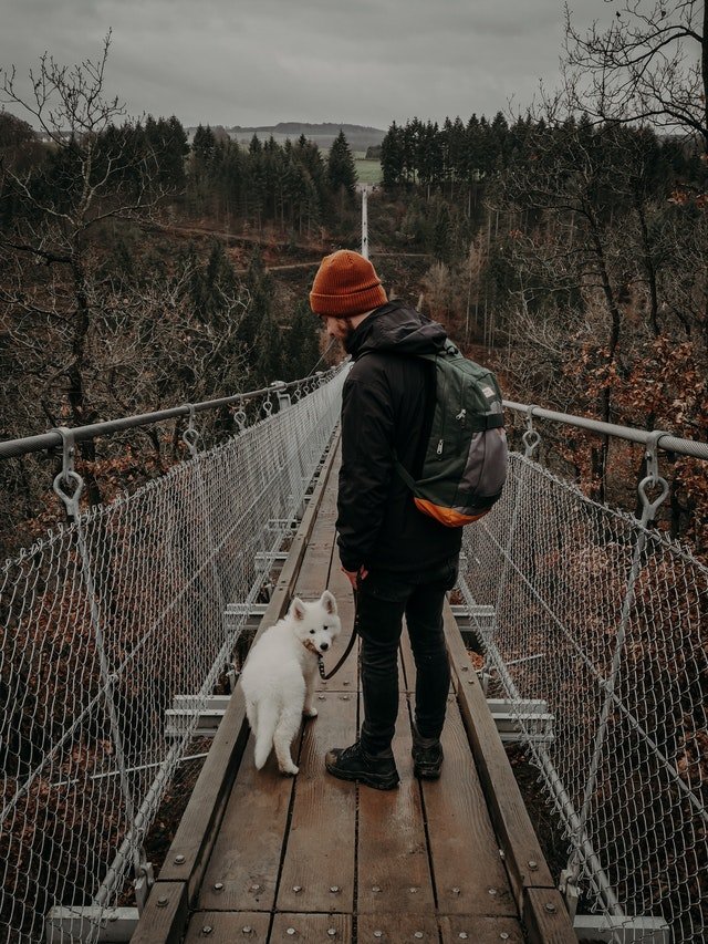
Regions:
<svg viewBox="0 0 708 944"><path fill-rule="evenodd" d="M358 582L357 632L364 695L362 747L391 748L398 714L398 643L406 616L416 663L415 722L421 737L439 737L450 686L442 632L445 594L457 580L458 559L426 573L372 571Z"/></svg>

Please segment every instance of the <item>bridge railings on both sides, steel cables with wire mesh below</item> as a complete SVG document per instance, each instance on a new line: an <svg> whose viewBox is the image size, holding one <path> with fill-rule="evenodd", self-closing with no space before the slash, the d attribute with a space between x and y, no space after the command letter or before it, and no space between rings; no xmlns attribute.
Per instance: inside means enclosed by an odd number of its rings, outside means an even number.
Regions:
<svg viewBox="0 0 708 944"><path fill-rule="evenodd" d="M244 614L256 600L343 378L259 392L250 425L228 398L240 432L208 452L197 448L205 405L168 412L189 418L190 459L85 511L74 443L165 412L0 444L14 456L63 446L55 490L73 518L0 578L0 940L42 940L62 904L84 920L61 940L94 941L129 880L145 883L145 837L194 733L166 739L165 712L185 694L198 708L228 670L246 616L225 619L227 603ZM506 406L525 414L527 455L511 455L501 501L465 531L460 589L480 614L486 677L523 706L518 724L568 837L569 904L580 895L624 942L666 941L662 927L674 942L706 940L708 570L649 521L665 495L659 450L707 447ZM534 463L534 417L642 443L642 519ZM532 704L553 714L552 736L539 737Z"/></svg>

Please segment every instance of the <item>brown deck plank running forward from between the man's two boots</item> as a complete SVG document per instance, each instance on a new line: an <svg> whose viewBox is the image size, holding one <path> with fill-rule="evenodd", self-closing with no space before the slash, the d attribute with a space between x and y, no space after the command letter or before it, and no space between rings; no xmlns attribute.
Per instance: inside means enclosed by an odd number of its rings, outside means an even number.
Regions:
<svg viewBox="0 0 708 944"><path fill-rule="evenodd" d="M420 788L413 776L408 703L400 695L394 754L397 790L358 793L358 913L430 914L435 895L426 846Z"/></svg>

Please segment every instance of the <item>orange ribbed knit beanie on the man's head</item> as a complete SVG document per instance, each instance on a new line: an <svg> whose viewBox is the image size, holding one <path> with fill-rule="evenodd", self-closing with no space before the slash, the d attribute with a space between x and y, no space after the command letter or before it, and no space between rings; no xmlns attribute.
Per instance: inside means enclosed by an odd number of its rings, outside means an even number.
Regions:
<svg viewBox="0 0 708 944"><path fill-rule="evenodd" d="M339 249L324 257L310 292L314 313L330 318L363 314L386 301L372 263L351 249Z"/></svg>

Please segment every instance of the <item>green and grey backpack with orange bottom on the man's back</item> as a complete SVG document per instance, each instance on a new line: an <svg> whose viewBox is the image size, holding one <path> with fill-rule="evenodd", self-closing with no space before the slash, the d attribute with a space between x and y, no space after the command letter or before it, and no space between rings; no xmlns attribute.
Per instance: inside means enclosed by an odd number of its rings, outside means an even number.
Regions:
<svg viewBox="0 0 708 944"><path fill-rule="evenodd" d="M491 371L446 341L435 364L436 403L420 478L396 459L416 507L449 528L477 521L500 498L507 478L501 391Z"/></svg>

